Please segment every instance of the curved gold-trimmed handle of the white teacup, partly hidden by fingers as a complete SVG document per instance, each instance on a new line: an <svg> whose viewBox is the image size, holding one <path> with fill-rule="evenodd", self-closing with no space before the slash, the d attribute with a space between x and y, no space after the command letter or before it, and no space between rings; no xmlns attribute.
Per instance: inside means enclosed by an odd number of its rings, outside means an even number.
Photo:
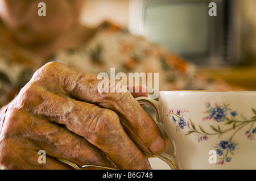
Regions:
<svg viewBox="0 0 256 181"><path fill-rule="evenodd" d="M150 107L152 107L152 109L155 111L156 113L156 121L158 121L159 123L162 123L162 120L160 118L160 105L159 102L157 102L154 99L150 99L144 96L140 96L135 98L139 104L146 104ZM172 170L177 170L177 166L176 166L176 160L174 157L172 157L171 155L167 154L167 153L161 153L158 155L155 155L155 157L158 157L160 159L162 159L162 161L166 162L168 164L168 166L171 167Z"/></svg>

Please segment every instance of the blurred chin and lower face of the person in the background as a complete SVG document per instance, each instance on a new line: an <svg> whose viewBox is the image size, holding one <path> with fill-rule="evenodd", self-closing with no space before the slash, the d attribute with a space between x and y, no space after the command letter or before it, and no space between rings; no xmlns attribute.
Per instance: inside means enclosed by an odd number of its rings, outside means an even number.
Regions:
<svg viewBox="0 0 256 181"><path fill-rule="evenodd" d="M39 16L39 2L46 16ZM79 24L83 0L0 0L0 18L21 44L44 44Z"/></svg>

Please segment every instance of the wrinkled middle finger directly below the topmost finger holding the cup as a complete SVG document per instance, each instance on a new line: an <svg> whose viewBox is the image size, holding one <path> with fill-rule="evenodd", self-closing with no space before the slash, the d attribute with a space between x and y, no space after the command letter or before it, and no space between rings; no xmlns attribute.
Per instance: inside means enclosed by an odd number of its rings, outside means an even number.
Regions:
<svg viewBox="0 0 256 181"><path fill-rule="evenodd" d="M35 115L42 115L47 117L50 121L65 125L68 130L86 138L92 145L102 150L118 168L151 168L146 155L131 141L130 137L127 136L115 112L100 108L94 104L84 103L65 96L53 94L39 86L30 87L28 90L30 91L23 94L23 98L26 97L26 102L23 103L24 108L32 110ZM35 100L40 101L38 101L38 104L32 104ZM47 124L44 125L44 127L46 126ZM41 126L39 128L41 128ZM47 129L52 132L52 128L54 127ZM58 132L60 132L60 130ZM54 136L53 138L58 135L58 132L55 131L51 133L51 135ZM45 131L43 131L43 133L45 133ZM62 134L63 131L61 131L61 135ZM47 135L47 138L49 139L49 135ZM68 138L71 137L65 136L65 140L68 140L67 142L72 142L77 145L75 141L69 140ZM79 144L81 146L81 143ZM53 146L55 145L53 144ZM65 146L63 147L65 148ZM90 156L93 155L90 154Z"/></svg>

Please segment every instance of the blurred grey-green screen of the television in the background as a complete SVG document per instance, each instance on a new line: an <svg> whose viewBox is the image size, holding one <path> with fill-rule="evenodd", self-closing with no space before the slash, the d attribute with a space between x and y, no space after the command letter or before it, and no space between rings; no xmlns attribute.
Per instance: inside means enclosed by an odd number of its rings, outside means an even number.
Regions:
<svg viewBox="0 0 256 181"><path fill-rule="evenodd" d="M168 3L146 6L143 35L184 57L205 56L209 50L207 3Z"/></svg>

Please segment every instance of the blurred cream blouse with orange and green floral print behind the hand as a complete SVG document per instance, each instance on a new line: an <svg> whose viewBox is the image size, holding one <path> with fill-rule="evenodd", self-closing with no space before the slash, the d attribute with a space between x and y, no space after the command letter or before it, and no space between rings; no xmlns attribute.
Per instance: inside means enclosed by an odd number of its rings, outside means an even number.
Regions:
<svg viewBox="0 0 256 181"><path fill-rule="evenodd" d="M0 106L14 95L42 65L33 61L39 56L23 49L0 43ZM205 75L196 74L196 67L178 54L150 43L143 37L108 22L82 47L57 52L51 60L60 61L89 73L159 73L160 90L212 90Z"/></svg>

